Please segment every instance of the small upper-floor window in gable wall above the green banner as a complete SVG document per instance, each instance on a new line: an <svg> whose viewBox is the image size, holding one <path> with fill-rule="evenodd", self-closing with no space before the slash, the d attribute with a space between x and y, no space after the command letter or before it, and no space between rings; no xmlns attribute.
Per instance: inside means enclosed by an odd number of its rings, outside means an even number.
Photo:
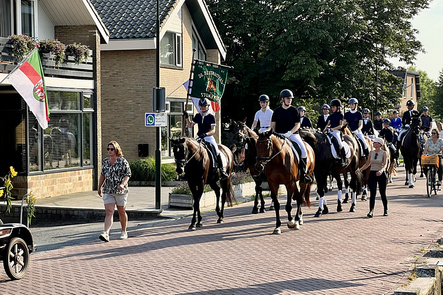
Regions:
<svg viewBox="0 0 443 295"><path fill-rule="evenodd" d="M166 32L160 41L160 62L166 66L181 66L181 35Z"/></svg>

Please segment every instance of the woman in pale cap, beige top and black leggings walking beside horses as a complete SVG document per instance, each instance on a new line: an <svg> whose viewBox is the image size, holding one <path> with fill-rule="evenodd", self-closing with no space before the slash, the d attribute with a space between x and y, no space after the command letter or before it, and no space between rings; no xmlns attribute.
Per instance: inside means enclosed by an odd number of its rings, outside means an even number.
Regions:
<svg viewBox="0 0 443 295"><path fill-rule="evenodd" d="M388 166L388 153L381 149L384 142L380 137L372 139L374 142L374 150L370 151L368 161L357 171L364 171L371 166L368 188L370 190L369 213L368 218L374 216L375 195L377 194L377 184L379 185L379 193L381 202L383 202L383 216L388 216L388 198L386 198L386 167Z"/></svg>

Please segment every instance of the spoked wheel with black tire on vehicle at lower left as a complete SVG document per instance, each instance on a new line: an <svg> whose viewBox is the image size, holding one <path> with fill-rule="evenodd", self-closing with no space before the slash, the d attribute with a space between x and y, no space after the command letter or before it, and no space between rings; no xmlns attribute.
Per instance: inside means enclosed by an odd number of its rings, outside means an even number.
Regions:
<svg viewBox="0 0 443 295"><path fill-rule="evenodd" d="M21 238L12 238L3 252L3 266L11 280L19 280L29 265L29 249Z"/></svg>

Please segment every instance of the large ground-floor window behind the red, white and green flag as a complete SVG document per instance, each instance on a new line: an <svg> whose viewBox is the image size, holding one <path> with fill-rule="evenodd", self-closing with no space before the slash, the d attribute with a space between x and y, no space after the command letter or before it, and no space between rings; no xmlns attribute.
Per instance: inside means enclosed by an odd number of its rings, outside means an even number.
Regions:
<svg viewBox="0 0 443 295"><path fill-rule="evenodd" d="M48 91L51 115L45 130L29 112L30 172L92 164L92 102L89 92Z"/></svg>

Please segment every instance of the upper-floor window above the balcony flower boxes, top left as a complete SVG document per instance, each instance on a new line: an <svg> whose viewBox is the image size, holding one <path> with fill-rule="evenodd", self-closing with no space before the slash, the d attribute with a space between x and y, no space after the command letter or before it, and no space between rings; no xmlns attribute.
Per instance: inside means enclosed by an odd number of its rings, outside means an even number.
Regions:
<svg viewBox="0 0 443 295"><path fill-rule="evenodd" d="M35 37L35 6L34 0L0 0L0 37Z"/></svg>

